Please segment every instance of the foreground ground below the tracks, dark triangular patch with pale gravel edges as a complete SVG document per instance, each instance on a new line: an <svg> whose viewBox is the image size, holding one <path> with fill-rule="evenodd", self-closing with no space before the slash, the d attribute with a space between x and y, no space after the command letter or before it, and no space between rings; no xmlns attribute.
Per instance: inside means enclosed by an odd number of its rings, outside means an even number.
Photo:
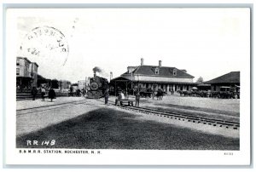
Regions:
<svg viewBox="0 0 256 172"><path fill-rule="evenodd" d="M79 102L63 105L71 99ZM33 106L36 103L53 105L35 100ZM47 138L55 140L55 148L239 150L238 129L135 112L127 106L110 105L113 102L106 106L104 99L66 97L54 103L56 106L17 111L18 147L27 148L26 140Z"/></svg>

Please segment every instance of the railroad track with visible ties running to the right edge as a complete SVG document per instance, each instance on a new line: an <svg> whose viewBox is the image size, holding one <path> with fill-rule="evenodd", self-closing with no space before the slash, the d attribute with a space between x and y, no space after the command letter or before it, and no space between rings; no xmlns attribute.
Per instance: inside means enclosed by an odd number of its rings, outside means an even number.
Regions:
<svg viewBox="0 0 256 172"><path fill-rule="evenodd" d="M110 101L110 102L111 102L110 105L114 106L113 101ZM172 118L172 119L177 119L179 121L186 121L189 123L201 123L201 124L212 125L214 127L221 127L225 129L240 129L240 123L233 122L233 121L221 120L216 118L205 118L205 117L199 117L199 116L194 116L189 114L181 114L177 112L160 111L156 109L137 107L137 106L117 106L117 107L128 110L128 111L141 112L144 114L155 115L163 118Z"/></svg>

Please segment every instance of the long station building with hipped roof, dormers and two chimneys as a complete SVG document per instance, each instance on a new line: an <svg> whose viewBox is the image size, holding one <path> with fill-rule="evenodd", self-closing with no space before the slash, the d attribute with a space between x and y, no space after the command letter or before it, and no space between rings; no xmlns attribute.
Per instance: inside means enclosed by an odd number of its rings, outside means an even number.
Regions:
<svg viewBox="0 0 256 172"><path fill-rule="evenodd" d="M142 58L140 66L128 66L127 71L113 78L110 85L115 92L119 88L127 92L139 88L143 91L163 89L170 94L177 90L191 90L197 85L193 78L186 70L162 66L161 60L158 66L144 65Z"/></svg>

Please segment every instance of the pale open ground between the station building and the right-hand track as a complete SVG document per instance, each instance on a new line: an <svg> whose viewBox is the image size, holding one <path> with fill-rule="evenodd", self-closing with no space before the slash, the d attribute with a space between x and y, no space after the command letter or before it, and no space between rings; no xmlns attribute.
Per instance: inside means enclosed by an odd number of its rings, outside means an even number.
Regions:
<svg viewBox="0 0 256 172"><path fill-rule="evenodd" d="M135 100L134 96L130 96ZM115 97L110 100L114 101ZM183 97L179 95L166 95L163 100L142 98L140 106L177 112L183 115L194 115L204 118L216 118L233 122L240 122L240 100L223 100L201 97Z"/></svg>

